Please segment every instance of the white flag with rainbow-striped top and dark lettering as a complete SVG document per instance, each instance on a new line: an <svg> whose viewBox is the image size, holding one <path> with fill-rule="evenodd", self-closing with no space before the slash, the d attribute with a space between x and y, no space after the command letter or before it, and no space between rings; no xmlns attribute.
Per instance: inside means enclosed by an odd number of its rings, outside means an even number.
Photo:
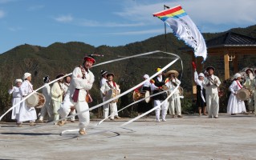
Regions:
<svg viewBox="0 0 256 160"><path fill-rule="evenodd" d="M195 57L201 56L204 58L205 62L205 59L207 58L205 39L197 29L195 23L189 18L189 15L181 6L163 10L153 14L153 16L160 18L163 22L169 25L177 38L182 39L188 46L193 47Z"/></svg>

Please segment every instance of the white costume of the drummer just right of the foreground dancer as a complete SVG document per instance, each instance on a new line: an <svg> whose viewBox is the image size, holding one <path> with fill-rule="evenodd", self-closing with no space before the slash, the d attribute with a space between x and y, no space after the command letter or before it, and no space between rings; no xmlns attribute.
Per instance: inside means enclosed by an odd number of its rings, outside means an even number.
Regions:
<svg viewBox="0 0 256 160"><path fill-rule="evenodd" d="M112 86L112 88L116 89L120 94L120 88L117 84L116 84L116 87L114 86L113 82L109 82L109 84L110 86ZM108 86L108 82L105 82L104 85L101 86L100 88L101 93L106 94L108 90L112 89L110 86ZM108 100L108 99L105 99L105 100ZM116 102L109 102L108 104L104 105L104 118L108 118L109 108L110 108L110 115L112 119L114 118L114 116L118 116Z"/></svg>

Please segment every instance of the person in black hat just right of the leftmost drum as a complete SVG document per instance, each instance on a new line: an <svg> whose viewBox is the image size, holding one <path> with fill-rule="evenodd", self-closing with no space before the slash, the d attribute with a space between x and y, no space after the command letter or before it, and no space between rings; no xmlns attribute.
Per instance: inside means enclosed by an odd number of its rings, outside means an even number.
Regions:
<svg viewBox="0 0 256 160"><path fill-rule="evenodd" d="M53 108L52 108L52 103L51 103L51 86L48 85L50 81L49 76L46 76L43 78L44 85L47 85L43 87L42 89L42 94L44 95L45 99L45 104L41 109L39 120L37 122L43 122L43 119L47 116L48 117L48 122L53 121Z"/></svg>

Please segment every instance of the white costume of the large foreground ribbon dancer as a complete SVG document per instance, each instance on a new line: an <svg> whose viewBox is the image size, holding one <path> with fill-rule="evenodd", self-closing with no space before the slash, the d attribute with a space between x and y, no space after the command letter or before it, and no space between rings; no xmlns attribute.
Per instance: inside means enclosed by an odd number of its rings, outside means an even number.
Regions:
<svg viewBox="0 0 256 160"><path fill-rule="evenodd" d="M75 106L75 110L80 113L84 110L88 110L89 106L86 102L87 90L91 90L92 84L95 80L94 75L90 70L85 72L85 78L83 79L82 71L79 67L75 67L73 70L71 85L68 87L67 94L64 98L64 101L58 110L58 113L61 115L61 118L67 117L71 111L71 106ZM72 97L75 93L75 89L79 89L78 101L74 102ZM90 122L89 111L84 112L83 114L78 114L79 118L79 128L80 130L85 129Z"/></svg>

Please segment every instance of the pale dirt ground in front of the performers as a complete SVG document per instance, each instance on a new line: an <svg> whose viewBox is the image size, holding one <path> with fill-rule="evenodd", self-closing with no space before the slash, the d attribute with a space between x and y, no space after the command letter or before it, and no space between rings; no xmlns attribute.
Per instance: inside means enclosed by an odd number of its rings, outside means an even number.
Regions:
<svg viewBox="0 0 256 160"><path fill-rule="evenodd" d="M78 122L65 126L39 124L16 127L0 123L0 159L256 159L256 117L219 118L185 115L184 118L129 118L103 122L92 119L87 135Z"/></svg>

